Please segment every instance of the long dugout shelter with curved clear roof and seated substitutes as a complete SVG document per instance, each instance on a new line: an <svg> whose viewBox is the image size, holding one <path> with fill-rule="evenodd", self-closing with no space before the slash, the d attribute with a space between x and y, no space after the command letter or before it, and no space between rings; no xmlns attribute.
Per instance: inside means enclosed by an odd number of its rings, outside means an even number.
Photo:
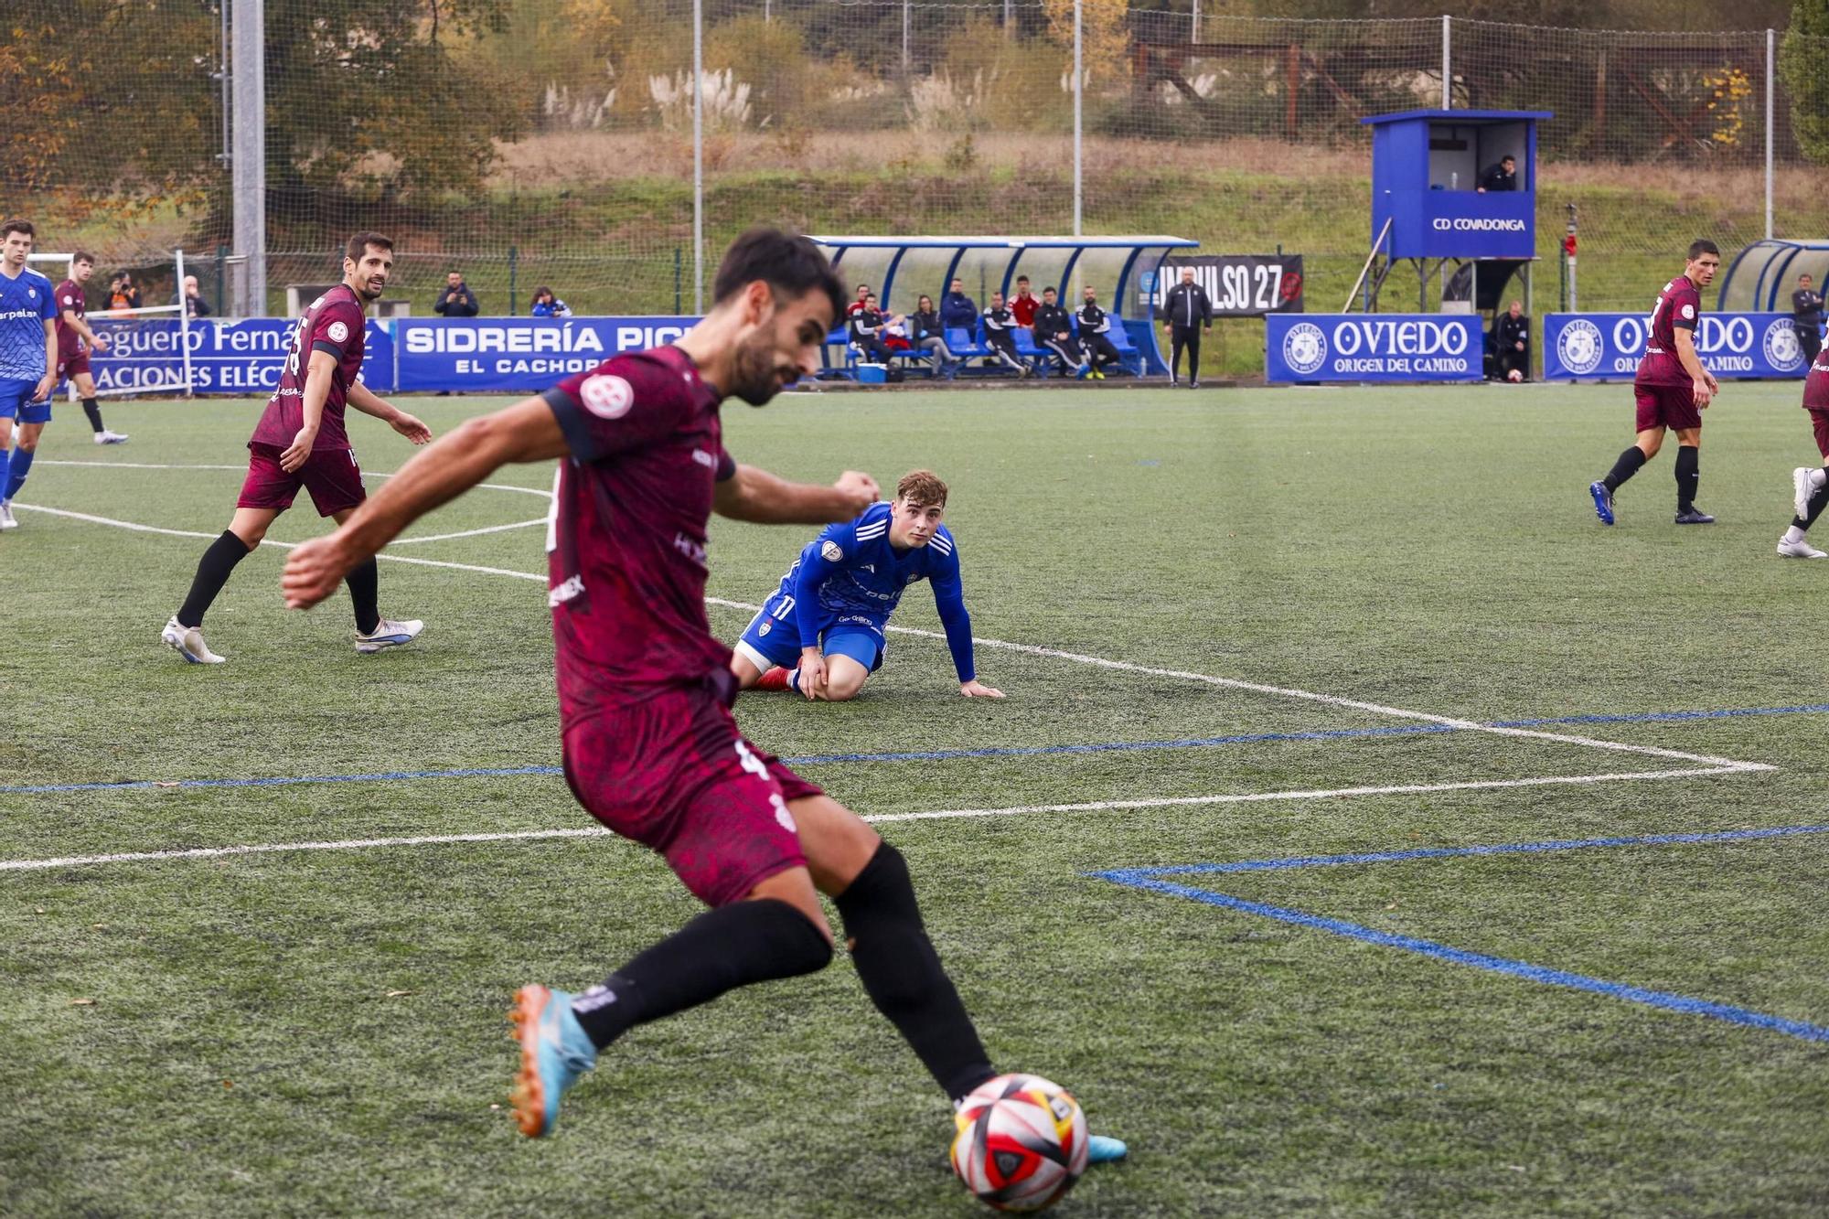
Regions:
<svg viewBox="0 0 1829 1219"><path fill-rule="evenodd" d="M1030 291L1059 293L1061 307L1074 313L1085 289L1096 287L1099 307L1116 326L1112 344L1123 364L1136 375L1165 375L1169 364L1156 346L1156 276L1176 249L1196 249L1187 238L1150 236L812 236L847 289L869 284L885 313L913 313L922 295L935 307L955 278L982 313L993 291L1008 300L1017 276L1030 278ZM1077 328L1075 328L1077 329ZM957 355L982 355L982 324L975 333L947 331L947 346ZM1017 350L1039 355L1033 337L1017 333ZM836 359L834 359L836 351ZM827 337L829 375L850 375L849 335L843 320Z"/></svg>

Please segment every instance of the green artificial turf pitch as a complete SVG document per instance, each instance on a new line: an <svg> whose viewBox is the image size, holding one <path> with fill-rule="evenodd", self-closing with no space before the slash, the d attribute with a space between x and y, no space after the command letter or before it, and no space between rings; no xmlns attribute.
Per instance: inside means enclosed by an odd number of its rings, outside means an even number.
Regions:
<svg viewBox="0 0 1829 1219"><path fill-rule="evenodd" d="M1586 487L1630 441L1622 386L732 405L732 452L792 478L938 470L975 633L1030 648L979 650L1004 703L960 699L944 642L904 633L852 705L744 696L737 716L860 813L984 813L880 827L997 1063L1130 1140L1061 1214L1824 1214L1829 1041L1807 1030L1829 1029L1829 835L1172 877L1615 990L1094 875L1829 824L1829 560L1772 553L1789 472L1816 459L1796 401L1727 386L1699 496L1721 520L1690 529L1672 452L1617 527L1593 516ZM497 403L399 405L443 432ZM0 1210L973 1214L944 1098L843 959L638 1029L552 1138L514 1131L514 987L589 985L695 910L640 847L18 866L591 824L551 772L536 580L382 564L382 613L428 628L358 657L348 602L283 611L263 549L207 620L229 664L159 646L256 410L108 405L134 439L97 448L62 406L0 536ZM366 417L351 432L371 472L408 456ZM551 469L492 481L543 491ZM543 511L474 491L410 536ZM320 529L300 507L273 538ZM810 533L715 523L710 593L759 602ZM541 540L393 553L538 575ZM726 641L746 617L711 608ZM924 588L896 622L938 630ZM1761 714L1648 717L1730 710ZM1544 736L1469 727L1522 721ZM1606 778L1641 772L1677 774ZM144 785L51 791L123 782Z"/></svg>

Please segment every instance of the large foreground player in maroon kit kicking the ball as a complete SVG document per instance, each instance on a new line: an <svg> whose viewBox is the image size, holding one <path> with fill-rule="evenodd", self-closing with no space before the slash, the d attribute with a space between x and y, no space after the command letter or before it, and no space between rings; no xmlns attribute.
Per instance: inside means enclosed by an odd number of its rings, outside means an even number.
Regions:
<svg viewBox="0 0 1829 1219"><path fill-rule="evenodd" d="M902 855L854 813L750 745L730 714L730 648L704 611L706 523L834 523L876 500L737 465L719 403L752 406L818 368L843 286L807 238L754 229L724 254L711 313L675 346L604 361L541 397L470 419L413 458L327 538L285 564L289 606L313 606L410 522L508 461L560 461L547 533L560 721L572 794L666 857L708 910L600 987L523 987L512 1012L521 1133L545 1135L560 1096L627 1029L735 987L832 959L819 893L845 922L876 1009L958 1100L989 1056L922 926ZM1116 1140L1092 1144L1116 1159ZM1101 1155L1103 1151L1103 1155Z"/></svg>

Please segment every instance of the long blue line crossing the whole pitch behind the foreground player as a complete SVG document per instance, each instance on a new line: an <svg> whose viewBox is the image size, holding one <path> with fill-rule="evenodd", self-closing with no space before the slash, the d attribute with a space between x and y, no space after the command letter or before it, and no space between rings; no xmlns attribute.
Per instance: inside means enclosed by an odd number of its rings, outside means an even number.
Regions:
<svg viewBox="0 0 1829 1219"><path fill-rule="evenodd" d="M1560 716L1551 719L1500 719L1481 727L1487 728L1542 728L1571 723L1655 723L1685 719L1728 719L1734 716L1807 716L1829 712L1829 703L1809 703L1800 707L1736 707L1728 710L1695 712L1642 712L1624 716ZM1313 732L1246 732L1238 736L1203 736L1174 741L1101 741L1094 745L1030 745L1030 747L991 747L991 749L927 749L898 754L810 754L805 758L783 758L794 767L818 767L856 761L957 761L968 758L1039 758L1050 754L1110 754L1138 752L1156 749L1214 749L1220 745L1264 745L1275 741L1339 741L1350 738L1377 736L1428 736L1436 732L1469 732L1447 723L1394 725L1383 728L1326 728ZM430 778L501 778L516 774L562 774L560 767L481 767L457 771L386 771L377 774L300 774L280 778L241 778L241 780L124 780L119 783L44 783L29 787L0 787L0 796L46 796L73 791L132 791L141 787L287 787L293 783L371 783L391 780L430 780Z"/></svg>

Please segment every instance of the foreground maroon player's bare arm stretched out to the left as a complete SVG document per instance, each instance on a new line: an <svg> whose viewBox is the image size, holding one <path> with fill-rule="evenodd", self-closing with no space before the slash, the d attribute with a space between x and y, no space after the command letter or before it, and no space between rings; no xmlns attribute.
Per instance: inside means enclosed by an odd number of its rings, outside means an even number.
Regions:
<svg viewBox="0 0 1829 1219"><path fill-rule="evenodd" d="M466 419L401 467L342 529L313 538L285 560L280 589L293 610L307 610L342 584L410 523L455 500L514 461L563 458L565 434L543 397L529 397L492 415Z"/></svg>

